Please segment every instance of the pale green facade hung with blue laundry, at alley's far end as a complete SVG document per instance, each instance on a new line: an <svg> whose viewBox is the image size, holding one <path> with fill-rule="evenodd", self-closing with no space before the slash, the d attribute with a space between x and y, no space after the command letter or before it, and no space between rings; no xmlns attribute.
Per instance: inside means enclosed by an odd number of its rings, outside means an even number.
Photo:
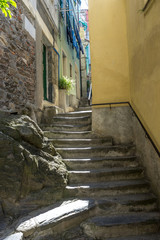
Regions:
<svg viewBox="0 0 160 240"><path fill-rule="evenodd" d="M67 106L71 107L77 107L81 97L80 52L83 46L79 35L79 10L79 0L60 1L60 77L73 79L73 89L67 97Z"/></svg>

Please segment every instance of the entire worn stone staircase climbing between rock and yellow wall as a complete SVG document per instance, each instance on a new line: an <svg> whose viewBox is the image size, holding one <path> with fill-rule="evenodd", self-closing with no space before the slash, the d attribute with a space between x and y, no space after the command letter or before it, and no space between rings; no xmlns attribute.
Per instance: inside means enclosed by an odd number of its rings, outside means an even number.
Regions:
<svg viewBox="0 0 160 240"><path fill-rule="evenodd" d="M42 126L69 171L64 201L17 222L16 233L7 240L160 239L156 197L135 146L95 136L91 114L81 108Z"/></svg>

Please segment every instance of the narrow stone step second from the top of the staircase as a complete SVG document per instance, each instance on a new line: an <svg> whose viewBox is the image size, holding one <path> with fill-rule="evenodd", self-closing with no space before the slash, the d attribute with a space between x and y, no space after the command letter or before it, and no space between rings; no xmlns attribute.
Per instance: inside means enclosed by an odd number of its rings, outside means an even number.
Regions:
<svg viewBox="0 0 160 240"><path fill-rule="evenodd" d="M80 117L65 117L65 116L56 116L53 117L52 119L53 123L61 123L61 124L71 124L71 125L76 125L76 124L89 124L91 123L91 116L80 116Z"/></svg>

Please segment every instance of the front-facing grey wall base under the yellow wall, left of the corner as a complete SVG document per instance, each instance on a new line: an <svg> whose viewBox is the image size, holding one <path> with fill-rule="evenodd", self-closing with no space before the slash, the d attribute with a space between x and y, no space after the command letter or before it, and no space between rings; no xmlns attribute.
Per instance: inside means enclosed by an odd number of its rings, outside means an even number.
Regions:
<svg viewBox="0 0 160 240"><path fill-rule="evenodd" d="M101 136L111 136L115 144L132 143L132 111L128 106L93 108L92 130Z"/></svg>

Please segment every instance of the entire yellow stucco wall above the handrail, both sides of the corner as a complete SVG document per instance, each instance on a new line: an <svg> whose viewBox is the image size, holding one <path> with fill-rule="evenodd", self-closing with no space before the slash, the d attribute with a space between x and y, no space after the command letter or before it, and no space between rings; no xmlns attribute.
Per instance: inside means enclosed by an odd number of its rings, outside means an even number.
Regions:
<svg viewBox="0 0 160 240"><path fill-rule="evenodd" d="M130 101L160 150L160 1L89 0L93 104Z"/></svg>

